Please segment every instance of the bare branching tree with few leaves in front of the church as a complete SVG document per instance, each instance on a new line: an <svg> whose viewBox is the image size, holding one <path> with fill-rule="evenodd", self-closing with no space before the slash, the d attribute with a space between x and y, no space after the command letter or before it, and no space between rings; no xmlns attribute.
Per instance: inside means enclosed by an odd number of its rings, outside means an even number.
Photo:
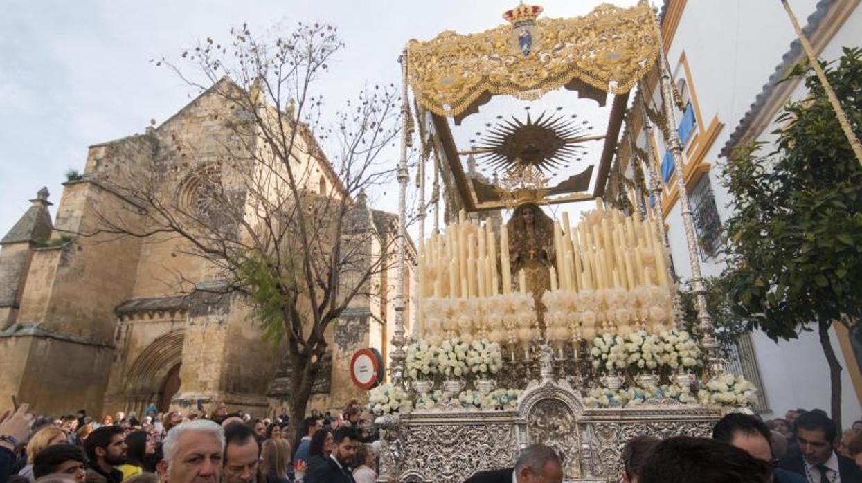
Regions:
<svg viewBox="0 0 862 483"><path fill-rule="evenodd" d="M253 302L265 336L287 346L292 424L305 414L324 331L352 300L377 296L376 276L392 263L372 257L367 247L377 234L352 220L365 212L357 202L364 192L393 177L394 163L379 158L399 133L402 100L392 84L366 86L334 122L322 121L315 82L341 46L328 25L299 23L269 40L244 25L226 44L207 39L179 63L157 61L223 101L209 115L224 132L208 139L218 149L173 137L174 158L192 168L178 193L166 183L171 169L159 166L163 152L103 167L93 179L129 208L100 213L93 232L178 238L180 251L203 258L223 282L216 290ZM328 159L318 139L337 154ZM113 158L141 158L146 145L127 143L132 152Z"/></svg>

